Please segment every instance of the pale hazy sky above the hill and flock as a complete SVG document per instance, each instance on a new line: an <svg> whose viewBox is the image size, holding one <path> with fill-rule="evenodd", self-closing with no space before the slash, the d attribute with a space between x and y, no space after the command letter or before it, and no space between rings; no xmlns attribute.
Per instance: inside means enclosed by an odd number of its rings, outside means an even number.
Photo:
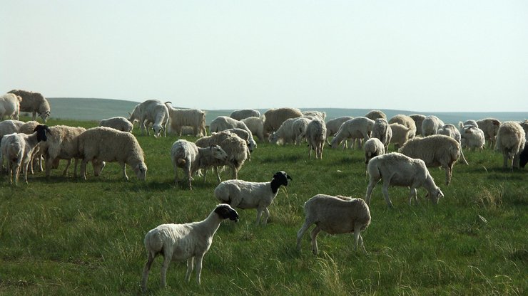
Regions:
<svg viewBox="0 0 528 296"><path fill-rule="evenodd" d="M528 112L528 1L2 0L0 91Z"/></svg>

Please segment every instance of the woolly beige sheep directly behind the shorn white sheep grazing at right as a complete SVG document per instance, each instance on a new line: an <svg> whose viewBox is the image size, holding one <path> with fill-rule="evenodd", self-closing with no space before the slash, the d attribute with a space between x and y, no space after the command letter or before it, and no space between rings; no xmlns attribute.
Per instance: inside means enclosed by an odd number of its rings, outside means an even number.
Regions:
<svg viewBox="0 0 528 296"><path fill-rule="evenodd" d="M399 150L407 157L419 158L427 167L442 166L445 169L445 184L451 182L453 165L460 157L460 144L452 137L435 134L407 141Z"/></svg>

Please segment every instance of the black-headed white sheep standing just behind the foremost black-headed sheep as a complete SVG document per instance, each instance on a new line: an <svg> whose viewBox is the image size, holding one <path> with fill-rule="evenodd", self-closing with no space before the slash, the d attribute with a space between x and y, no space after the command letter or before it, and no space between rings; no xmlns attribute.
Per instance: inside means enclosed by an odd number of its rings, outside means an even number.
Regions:
<svg viewBox="0 0 528 296"><path fill-rule="evenodd" d="M215 188L215 197L218 201L228 203L233 208L256 208L257 221L263 217L263 225L268 223L270 211L268 207L277 196L280 186L288 186L288 179L293 180L285 171L278 171L269 182L249 182L243 180L223 181Z"/></svg>

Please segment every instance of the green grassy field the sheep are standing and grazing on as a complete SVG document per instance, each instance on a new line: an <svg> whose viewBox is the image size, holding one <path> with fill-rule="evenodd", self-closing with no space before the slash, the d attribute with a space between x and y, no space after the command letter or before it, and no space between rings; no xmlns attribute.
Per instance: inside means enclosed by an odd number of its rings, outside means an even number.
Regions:
<svg viewBox="0 0 528 296"><path fill-rule="evenodd" d="M96 122L49 120L49 125L93 127ZM177 139L141 137L147 181L124 181L118 164L81 181L53 171L10 186L0 177L0 295L140 295L146 251L143 237L161 223L200 221L213 210L214 178L197 178L193 191L176 188L170 149ZM186 139L194 140L193 137ZM528 174L502 169L496 152L465 152L452 184L430 169L445 199L407 204L394 187L387 208L380 185L372 195L372 223L362 233L368 254L352 250L351 235L318 238L320 254L295 248L303 203L315 194L362 197L367 188L362 152L259 143L240 179L269 181L275 171L293 177L270 206L268 226L255 210L222 223L205 255L202 285L183 279L172 263L160 288L161 258L148 280L149 295L527 295ZM62 169L61 164L59 169ZM228 179L228 172L222 175Z"/></svg>

